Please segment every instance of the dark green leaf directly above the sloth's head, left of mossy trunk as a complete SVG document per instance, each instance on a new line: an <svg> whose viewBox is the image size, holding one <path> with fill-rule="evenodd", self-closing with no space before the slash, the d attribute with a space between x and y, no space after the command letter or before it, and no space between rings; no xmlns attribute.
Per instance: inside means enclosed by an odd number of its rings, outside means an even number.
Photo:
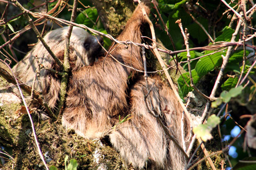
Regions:
<svg viewBox="0 0 256 170"><path fill-rule="evenodd" d="M87 27L93 28L98 18L98 12L96 8L88 8L82 11L77 17L75 22L86 25Z"/></svg>

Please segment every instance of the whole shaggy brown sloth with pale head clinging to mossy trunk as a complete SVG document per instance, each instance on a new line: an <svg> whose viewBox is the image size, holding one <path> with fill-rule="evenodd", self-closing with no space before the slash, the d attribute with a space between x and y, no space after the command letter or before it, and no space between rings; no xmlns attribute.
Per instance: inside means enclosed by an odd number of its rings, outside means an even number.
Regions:
<svg viewBox="0 0 256 170"><path fill-rule="evenodd" d="M147 14L150 12L147 6L138 5L117 37L118 40L141 42L141 28L146 23L142 7ZM66 30L57 29L45 36L48 45L60 59L63 56ZM90 44L85 45L85 42ZM148 78L146 83L143 76L135 71L143 70L141 48L115 44L110 54L95 61L97 55L100 55L100 45L89 33L79 28L73 29L70 44L70 62L73 62L73 67L62 125L86 139L109 136L113 147L120 152L125 162L138 169L142 169L148 162L152 169L183 169L184 156L148 108L154 111L180 145L182 128L185 143L188 144L188 120L185 117L185 125L181 127L182 108L172 89L157 76ZM24 82L33 81L35 77L38 68L35 56L42 65L56 67L48 52L38 43L14 67L16 75ZM40 78L47 77L50 79L41 80L41 87L37 85L36 89L42 89L48 104L53 108L58 98L60 80L49 71L41 69ZM144 100L146 84L152 88ZM126 121L120 122L125 118Z"/></svg>

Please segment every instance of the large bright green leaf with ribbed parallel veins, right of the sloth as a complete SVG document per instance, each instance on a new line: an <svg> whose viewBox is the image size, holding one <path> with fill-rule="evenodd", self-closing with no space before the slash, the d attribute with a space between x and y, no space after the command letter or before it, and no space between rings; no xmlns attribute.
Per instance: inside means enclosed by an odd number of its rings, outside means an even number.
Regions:
<svg viewBox="0 0 256 170"><path fill-rule="evenodd" d="M207 52L209 54L209 52ZM212 53L212 52L210 52ZM206 75L208 72L214 70L214 68L221 66L222 57L225 52L218 52L210 56L199 59L196 65L196 71L199 77Z"/></svg>

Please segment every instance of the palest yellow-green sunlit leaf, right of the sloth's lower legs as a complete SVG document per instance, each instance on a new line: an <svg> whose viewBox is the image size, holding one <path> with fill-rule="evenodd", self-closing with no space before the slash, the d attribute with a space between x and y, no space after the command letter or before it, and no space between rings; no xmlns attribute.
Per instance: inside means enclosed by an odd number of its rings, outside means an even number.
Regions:
<svg viewBox="0 0 256 170"><path fill-rule="evenodd" d="M197 135L197 138L201 138L203 141L212 139L210 131L211 130L208 128L207 125L202 125L202 124L193 128L193 132L194 132L194 134Z"/></svg>

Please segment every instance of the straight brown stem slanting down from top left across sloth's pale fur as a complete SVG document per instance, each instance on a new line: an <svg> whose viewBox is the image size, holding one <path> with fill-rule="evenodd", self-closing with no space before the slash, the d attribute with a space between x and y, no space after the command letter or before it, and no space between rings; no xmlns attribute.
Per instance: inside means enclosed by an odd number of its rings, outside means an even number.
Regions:
<svg viewBox="0 0 256 170"><path fill-rule="evenodd" d="M45 40L42 38L41 34L39 33L39 31L37 30L36 26L34 25L33 20L29 17L28 15L28 10L26 10L22 5L19 4L19 2L17 0L12 0L13 2L15 2L15 5L23 12L23 15L25 16L25 18L29 21L30 26L32 27L32 29L34 30L37 38L41 41L42 45L44 45L44 47L46 48L46 50L48 51L48 53L52 56L52 58L54 59L54 61L60 66L60 68L63 69L63 64L61 63L61 61L55 56L55 54L51 51L50 47L47 45L47 43L45 42Z"/></svg>

